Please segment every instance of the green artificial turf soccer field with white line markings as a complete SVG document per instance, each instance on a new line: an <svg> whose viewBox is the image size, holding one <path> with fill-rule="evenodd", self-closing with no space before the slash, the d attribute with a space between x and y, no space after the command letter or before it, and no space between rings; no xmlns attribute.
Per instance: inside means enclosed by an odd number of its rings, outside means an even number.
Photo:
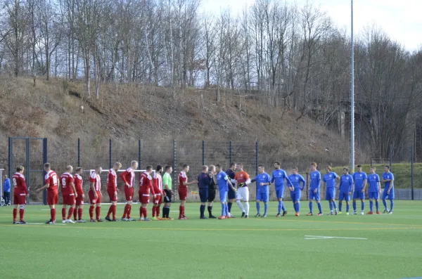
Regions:
<svg viewBox="0 0 422 279"><path fill-rule="evenodd" d="M255 215L255 202L250 205ZM101 279L422 276L422 202L397 201L394 214L372 216L305 216L307 202L302 202L302 216L296 217L287 205L289 214L280 218L273 202L266 219L200 220L199 204L191 203L186 205L190 219L184 221L56 225L41 224L49 219L46 206L27 206L27 225L12 225L12 207L0 207L0 274ZM232 213L238 214L235 206ZM123 207L117 207L119 216ZM172 210L178 208L172 205ZM107 209L103 205L102 217ZM220 211L215 205L215 215ZM58 217L60 212L58 207ZM132 212L139 212L139 205ZM89 219L88 207L84 219Z"/></svg>

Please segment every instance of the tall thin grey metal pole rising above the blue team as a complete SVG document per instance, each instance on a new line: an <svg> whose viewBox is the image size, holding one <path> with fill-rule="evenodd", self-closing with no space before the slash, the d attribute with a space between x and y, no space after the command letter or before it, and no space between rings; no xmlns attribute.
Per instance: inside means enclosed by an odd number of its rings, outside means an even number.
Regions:
<svg viewBox="0 0 422 279"><path fill-rule="evenodd" d="M351 50L350 50L350 170L354 172L354 41L353 41L353 0L351 0Z"/></svg>

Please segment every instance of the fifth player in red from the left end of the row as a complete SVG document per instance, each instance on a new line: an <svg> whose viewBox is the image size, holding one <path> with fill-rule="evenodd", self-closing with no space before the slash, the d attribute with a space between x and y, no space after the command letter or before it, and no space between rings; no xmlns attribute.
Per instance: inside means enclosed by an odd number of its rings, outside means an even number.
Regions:
<svg viewBox="0 0 422 279"><path fill-rule="evenodd" d="M95 171L89 176L89 217L91 222L103 222L100 219L101 213L101 171L103 168L98 166ZM95 207L95 219L94 219L94 207Z"/></svg>

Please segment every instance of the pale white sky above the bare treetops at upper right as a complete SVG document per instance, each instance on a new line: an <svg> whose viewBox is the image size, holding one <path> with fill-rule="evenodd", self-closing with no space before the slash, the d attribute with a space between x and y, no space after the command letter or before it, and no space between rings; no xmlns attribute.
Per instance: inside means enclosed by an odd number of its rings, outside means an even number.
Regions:
<svg viewBox="0 0 422 279"><path fill-rule="evenodd" d="M277 0L297 2L304 6L307 0ZM315 6L326 11L335 25L350 34L350 0L310 0ZM219 13L223 8L230 8L236 14L244 6L250 6L255 0L202 0L203 11ZM354 0L354 34L359 34L364 27L376 25L398 41L408 51L422 48L422 1L421 0Z"/></svg>

